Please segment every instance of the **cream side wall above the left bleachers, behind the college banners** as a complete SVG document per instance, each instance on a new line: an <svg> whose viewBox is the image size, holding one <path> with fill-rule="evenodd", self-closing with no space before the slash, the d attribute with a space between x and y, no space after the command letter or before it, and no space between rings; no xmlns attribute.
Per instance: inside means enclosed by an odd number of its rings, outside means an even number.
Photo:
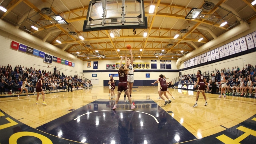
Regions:
<svg viewBox="0 0 256 144"><path fill-rule="evenodd" d="M49 51L49 50L46 50L43 48L37 48L34 45L29 45L28 43L26 43L26 41L16 41L16 42L30 46L32 48L35 48L35 49L40 50L45 53L48 53L48 51ZM33 67L36 69L40 68L41 71L43 71L43 69L44 69L47 72L48 71L53 72L53 68L56 66L57 70L60 70L60 74L62 72L68 76L82 74L83 64L84 64L84 62L82 60L79 60L79 59L71 60L71 59L67 59L67 58L61 56L60 54L50 52L50 54L53 56L56 56L61 59L65 59L65 60L75 63L75 67L67 66L67 65L57 63L54 61L52 61L52 64L50 64L50 63L44 62L44 59L39 56L35 56L32 54L26 54L25 52L21 52L19 50L12 49L11 43L12 43L12 39L0 36L0 53L1 53L0 65L1 65L1 67L7 66L8 64L10 64L10 65L12 65L12 70L14 70L16 65L21 65L21 67L24 66L24 68ZM49 66L49 68L48 68L48 66Z"/></svg>

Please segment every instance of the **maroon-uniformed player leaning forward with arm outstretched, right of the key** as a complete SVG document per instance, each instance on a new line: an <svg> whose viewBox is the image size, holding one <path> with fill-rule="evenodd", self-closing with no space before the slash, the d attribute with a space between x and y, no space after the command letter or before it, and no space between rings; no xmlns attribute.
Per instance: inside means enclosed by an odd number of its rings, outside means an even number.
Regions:
<svg viewBox="0 0 256 144"><path fill-rule="evenodd" d="M162 100L164 100L165 102L164 105L166 105L167 103L170 104L172 100L170 100L169 97L166 95L166 92L168 91L168 86L166 85L166 79L164 78L164 75L160 75L159 78L154 83L151 83L151 84L154 85L157 82L159 82L161 86L160 90L158 91L159 97ZM168 101L164 99L163 94L168 99Z"/></svg>

